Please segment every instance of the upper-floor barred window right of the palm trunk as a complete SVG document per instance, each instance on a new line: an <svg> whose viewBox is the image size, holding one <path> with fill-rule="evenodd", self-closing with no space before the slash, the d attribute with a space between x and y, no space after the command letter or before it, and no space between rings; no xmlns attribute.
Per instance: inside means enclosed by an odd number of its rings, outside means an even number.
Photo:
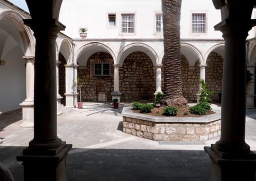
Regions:
<svg viewBox="0 0 256 181"><path fill-rule="evenodd" d="M192 33L205 33L205 14L192 14Z"/></svg>

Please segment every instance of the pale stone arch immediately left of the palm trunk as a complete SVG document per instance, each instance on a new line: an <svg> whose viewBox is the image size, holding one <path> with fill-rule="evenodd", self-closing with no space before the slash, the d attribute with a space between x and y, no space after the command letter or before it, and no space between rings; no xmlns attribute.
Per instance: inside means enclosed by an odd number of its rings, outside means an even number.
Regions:
<svg viewBox="0 0 256 181"><path fill-rule="evenodd" d="M153 50L153 48L151 48L150 46L148 46L147 44L144 43L131 43L125 47L122 48L122 50L119 52L118 54L118 59L119 59L119 65L122 66L124 59L132 52L135 51L141 51L145 54L147 54L152 63L153 66L155 66L156 62L159 62L158 60L158 56L156 54L156 52Z"/></svg>

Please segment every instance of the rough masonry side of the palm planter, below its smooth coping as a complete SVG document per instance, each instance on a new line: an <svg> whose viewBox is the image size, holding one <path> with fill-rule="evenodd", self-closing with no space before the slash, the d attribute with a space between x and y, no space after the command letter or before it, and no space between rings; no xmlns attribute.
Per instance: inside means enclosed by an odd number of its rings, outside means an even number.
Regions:
<svg viewBox="0 0 256 181"><path fill-rule="evenodd" d="M123 132L155 141L205 141L220 135L220 119L207 123L171 123L123 116Z"/></svg>

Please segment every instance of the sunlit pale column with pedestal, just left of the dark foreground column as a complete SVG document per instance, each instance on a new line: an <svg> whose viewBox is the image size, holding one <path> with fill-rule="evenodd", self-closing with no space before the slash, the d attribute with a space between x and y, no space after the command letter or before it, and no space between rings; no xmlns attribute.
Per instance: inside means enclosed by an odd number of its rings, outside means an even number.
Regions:
<svg viewBox="0 0 256 181"><path fill-rule="evenodd" d="M20 127L33 127L33 86L34 86L34 57L23 56L26 59L26 99L19 105L22 107L22 123Z"/></svg>

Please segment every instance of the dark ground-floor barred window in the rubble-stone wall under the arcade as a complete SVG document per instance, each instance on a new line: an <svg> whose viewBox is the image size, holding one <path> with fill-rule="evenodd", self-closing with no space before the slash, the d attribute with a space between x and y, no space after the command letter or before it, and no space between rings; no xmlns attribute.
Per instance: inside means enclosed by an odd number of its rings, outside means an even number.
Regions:
<svg viewBox="0 0 256 181"><path fill-rule="evenodd" d="M92 71L94 76L110 76L112 73L110 63L101 60L94 61Z"/></svg>

